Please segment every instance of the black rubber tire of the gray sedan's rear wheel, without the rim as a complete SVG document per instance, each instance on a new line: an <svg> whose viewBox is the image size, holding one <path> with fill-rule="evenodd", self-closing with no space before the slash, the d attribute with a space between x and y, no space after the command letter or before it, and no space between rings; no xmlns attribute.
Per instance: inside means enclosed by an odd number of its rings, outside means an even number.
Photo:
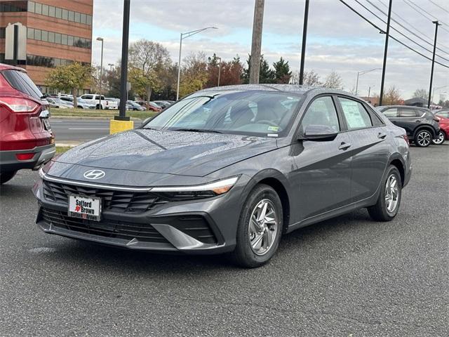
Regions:
<svg viewBox="0 0 449 337"><path fill-rule="evenodd" d="M394 209L391 211L387 208L386 201L386 190L387 190L387 181L391 176L396 178L398 193L397 193L397 204ZM382 180L382 188L380 190L379 197L377 198L377 202L374 206L368 207L368 213L370 213L371 218L376 221L391 221L394 219L396 214L398 213L399 206L401 206L401 197L402 197L402 180L401 174L398 171L398 168L394 165L390 165L387 170L387 175L384 180Z"/></svg>

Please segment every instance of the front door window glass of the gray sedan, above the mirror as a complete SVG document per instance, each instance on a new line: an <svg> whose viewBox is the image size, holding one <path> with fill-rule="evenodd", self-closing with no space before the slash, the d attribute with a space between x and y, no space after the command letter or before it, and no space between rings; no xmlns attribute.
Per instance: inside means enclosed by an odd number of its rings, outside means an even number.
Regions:
<svg viewBox="0 0 449 337"><path fill-rule="evenodd" d="M340 131L337 110L335 110L333 99L330 96L316 98L311 103L301 122L302 132L309 125L324 125L329 126L334 131Z"/></svg>

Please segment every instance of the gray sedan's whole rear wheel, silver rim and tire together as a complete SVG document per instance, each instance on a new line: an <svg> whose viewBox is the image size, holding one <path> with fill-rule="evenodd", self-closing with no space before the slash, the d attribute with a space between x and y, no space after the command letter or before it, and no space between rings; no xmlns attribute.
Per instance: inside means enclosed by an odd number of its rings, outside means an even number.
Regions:
<svg viewBox="0 0 449 337"><path fill-rule="evenodd" d="M389 166L387 172L387 178L382 184L382 190L376 204L368 207L368 213L370 213L371 218L377 221L393 220L401 204L401 175L396 166L393 165Z"/></svg>

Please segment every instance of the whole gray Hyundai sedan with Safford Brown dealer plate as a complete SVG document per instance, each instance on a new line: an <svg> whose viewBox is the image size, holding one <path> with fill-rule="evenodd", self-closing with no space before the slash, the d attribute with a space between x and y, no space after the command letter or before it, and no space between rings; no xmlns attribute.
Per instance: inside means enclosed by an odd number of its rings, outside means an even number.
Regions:
<svg viewBox="0 0 449 337"><path fill-rule="evenodd" d="M37 224L127 249L229 253L257 267L297 228L364 207L393 219L411 171L406 132L354 95L208 88L44 166Z"/></svg>

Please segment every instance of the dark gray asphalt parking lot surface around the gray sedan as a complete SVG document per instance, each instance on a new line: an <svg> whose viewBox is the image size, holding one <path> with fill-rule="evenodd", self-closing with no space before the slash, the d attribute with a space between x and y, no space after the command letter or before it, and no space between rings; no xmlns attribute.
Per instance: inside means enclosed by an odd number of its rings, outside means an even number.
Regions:
<svg viewBox="0 0 449 337"><path fill-rule="evenodd" d="M43 234L21 171L0 191L0 336L448 336L449 145L411 152L395 220L297 230L255 270Z"/></svg>

